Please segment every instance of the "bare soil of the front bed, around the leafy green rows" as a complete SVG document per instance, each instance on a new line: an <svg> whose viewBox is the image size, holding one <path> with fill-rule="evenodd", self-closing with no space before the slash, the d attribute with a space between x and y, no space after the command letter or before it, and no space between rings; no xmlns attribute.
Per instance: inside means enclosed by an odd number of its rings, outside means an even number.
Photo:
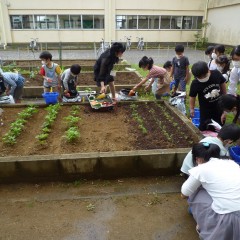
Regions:
<svg viewBox="0 0 240 240"><path fill-rule="evenodd" d="M1 156L166 149L191 147L193 142L198 141L163 103L149 102L138 105L137 111L143 119L146 133L139 129L139 123L133 119L129 105L116 106L111 112L92 111L89 105L79 107L81 121L78 126L81 136L77 142L67 143L63 137L67 130L64 117L69 115L70 106L61 106L47 144L40 145L36 136L41 131L46 115L46 110L40 108L39 112L28 120L15 145L6 146L2 138L0 139ZM11 122L21 110L22 108L4 108L1 116L4 124L0 127L1 136L7 133ZM167 113L167 117L163 113ZM161 121L161 127L158 120Z"/></svg>

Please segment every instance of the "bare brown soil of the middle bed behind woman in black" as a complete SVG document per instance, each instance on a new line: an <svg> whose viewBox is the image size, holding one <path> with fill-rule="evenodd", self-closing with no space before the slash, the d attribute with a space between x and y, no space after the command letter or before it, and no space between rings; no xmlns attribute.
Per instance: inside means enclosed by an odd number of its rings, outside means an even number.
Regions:
<svg viewBox="0 0 240 240"><path fill-rule="evenodd" d="M27 87L43 85L43 78L40 75L36 75L34 78L30 78L29 75L23 75L23 77L25 77L25 86ZM96 85L92 72L83 72L79 78L80 86ZM133 85L140 81L140 77L135 72L116 72L115 85Z"/></svg>

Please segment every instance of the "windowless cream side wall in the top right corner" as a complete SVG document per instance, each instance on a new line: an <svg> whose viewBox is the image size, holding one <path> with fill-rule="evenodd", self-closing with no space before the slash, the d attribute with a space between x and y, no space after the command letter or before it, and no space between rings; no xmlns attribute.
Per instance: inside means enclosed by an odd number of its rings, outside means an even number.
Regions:
<svg viewBox="0 0 240 240"><path fill-rule="evenodd" d="M210 0L208 4L207 29L209 42L226 45L240 44L240 1Z"/></svg>

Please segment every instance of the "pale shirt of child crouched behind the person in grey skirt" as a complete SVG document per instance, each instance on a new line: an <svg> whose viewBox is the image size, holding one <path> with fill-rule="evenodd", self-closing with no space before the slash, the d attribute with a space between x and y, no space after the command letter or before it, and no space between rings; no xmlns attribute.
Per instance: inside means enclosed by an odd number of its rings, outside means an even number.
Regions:
<svg viewBox="0 0 240 240"><path fill-rule="evenodd" d="M200 142L214 143L220 147L220 156L228 156L227 149L223 146L222 141L217 137L205 137ZM193 168L192 151L190 151L183 160L181 171L189 175L189 170Z"/></svg>

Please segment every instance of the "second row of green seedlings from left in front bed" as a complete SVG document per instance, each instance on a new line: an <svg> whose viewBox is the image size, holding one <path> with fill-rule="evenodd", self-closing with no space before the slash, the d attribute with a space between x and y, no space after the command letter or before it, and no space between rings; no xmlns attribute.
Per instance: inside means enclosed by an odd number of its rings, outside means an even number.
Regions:
<svg viewBox="0 0 240 240"><path fill-rule="evenodd" d="M44 118L40 133L36 136L41 145L45 145L47 143L53 123L59 113L60 104L49 105L45 110L47 111L47 115Z"/></svg>

